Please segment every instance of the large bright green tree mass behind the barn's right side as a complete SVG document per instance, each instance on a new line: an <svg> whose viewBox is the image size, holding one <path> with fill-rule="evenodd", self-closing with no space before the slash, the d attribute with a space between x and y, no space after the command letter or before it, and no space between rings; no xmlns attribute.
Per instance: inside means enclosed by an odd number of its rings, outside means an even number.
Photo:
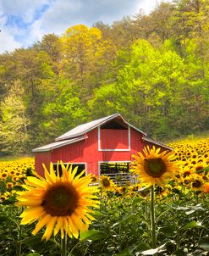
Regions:
<svg viewBox="0 0 209 256"><path fill-rule="evenodd" d="M172 42L158 49L139 40L130 56L129 64L118 70L117 81L96 90L89 102L92 115L118 111L135 126L163 138L203 127L204 86L193 74L194 64L175 53Z"/></svg>

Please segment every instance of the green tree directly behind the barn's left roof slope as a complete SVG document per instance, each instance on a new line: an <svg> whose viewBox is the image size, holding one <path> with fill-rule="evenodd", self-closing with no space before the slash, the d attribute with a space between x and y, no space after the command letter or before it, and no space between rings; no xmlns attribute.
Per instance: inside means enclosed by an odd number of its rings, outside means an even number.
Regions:
<svg viewBox="0 0 209 256"><path fill-rule="evenodd" d="M57 81L57 94L42 107L43 121L39 126L45 141L69 131L87 119L85 106L80 103L76 87L67 79Z"/></svg>

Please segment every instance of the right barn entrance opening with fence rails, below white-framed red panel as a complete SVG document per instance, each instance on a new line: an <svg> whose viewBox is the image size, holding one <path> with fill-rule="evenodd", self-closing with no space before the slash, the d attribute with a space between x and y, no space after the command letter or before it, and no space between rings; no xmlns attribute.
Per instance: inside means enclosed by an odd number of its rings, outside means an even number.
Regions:
<svg viewBox="0 0 209 256"><path fill-rule="evenodd" d="M129 162L100 163L100 175L108 175L118 186L135 183L129 173Z"/></svg>

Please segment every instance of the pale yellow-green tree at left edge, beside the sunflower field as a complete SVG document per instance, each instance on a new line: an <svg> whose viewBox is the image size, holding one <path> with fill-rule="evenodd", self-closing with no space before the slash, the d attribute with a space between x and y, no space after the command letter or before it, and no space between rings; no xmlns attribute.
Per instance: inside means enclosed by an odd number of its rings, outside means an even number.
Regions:
<svg viewBox="0 0 209 256"><path fill-rule="evenodd" d="M20 81L15 81L8 96L1 103L0 142L3 151L25 153L28 150L28 125L24 104L24 89Z"/></svg>

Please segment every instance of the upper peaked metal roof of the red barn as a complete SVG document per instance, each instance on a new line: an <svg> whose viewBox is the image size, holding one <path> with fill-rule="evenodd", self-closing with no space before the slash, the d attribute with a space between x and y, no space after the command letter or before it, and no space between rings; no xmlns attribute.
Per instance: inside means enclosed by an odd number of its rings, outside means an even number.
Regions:
<svg viewBox="0 0 209 256"><path fill-rule="evenodd" d="M63 135L58 136L55 139L55 141L58 142L58 141L63 141L63 140L69 139L69 138L85 135L86 132L91 131L91 130L95 129L96 127L103 125L103 124L107 123L108 121L114 120L116 118L123 120L126 125L129 125L130 127L134 128L136 131L139 131L140 133L142 133L143 135L146 136L146 133L144 131L140 131L134 125L130 125L128 122L126 122L124 120L124 118L121 114L116 113L116 114L109 115L107 117L103 117L99 120L91 121L84 125L79 125L79 126L75 127L74 129L64 133Z"/></svg>

